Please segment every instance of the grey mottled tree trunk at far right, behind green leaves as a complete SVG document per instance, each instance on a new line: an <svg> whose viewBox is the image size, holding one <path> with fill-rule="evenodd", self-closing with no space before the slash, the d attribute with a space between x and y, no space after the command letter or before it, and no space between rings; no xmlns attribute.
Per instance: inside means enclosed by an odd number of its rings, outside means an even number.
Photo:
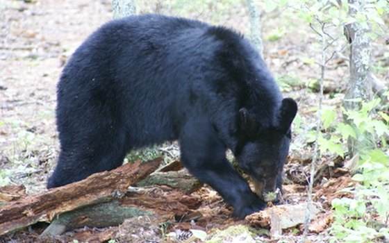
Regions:
<svg viewBox="0 0 389 243"><path fill-rule="evenodd" d="M356 8L349 8L349 15L355 16L365 6L365 0L349 0ZM345 26L345 35L350 44L350 79L345 93L346 110L359 110L362 102L372 99L372 75L370 70L372 47L368 35L370 26L366 23L354 22ZM356 101L361 99L361 101ZM347 117L345 117L347 121ZM349 121L347 121L349 122ZM352 124L351 124L352 126ZM363 137L363 135L362 135ZM369 146L369 138L355 140L349 137L350 157Z"/></svg>

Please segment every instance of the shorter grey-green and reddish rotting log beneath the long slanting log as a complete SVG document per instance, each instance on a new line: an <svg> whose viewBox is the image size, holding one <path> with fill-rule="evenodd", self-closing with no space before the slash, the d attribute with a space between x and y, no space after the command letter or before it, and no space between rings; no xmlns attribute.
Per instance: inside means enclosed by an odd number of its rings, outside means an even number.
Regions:
<svg viewBox="0 0 389 243"><path fill-rule="evenodd" d="M159 192L152 190L150 192L142 190L142 193L129 192L115 201L94 204L58 215L42 233L42 236L60 235L65 231L83 226L100 228L118 226L124 222L124 219L144 215L154 215L165 220L176 218L185 220L188 212L198 208L199 205L200 199L186 196L178 191L168 194L162 190Z"/></svg>

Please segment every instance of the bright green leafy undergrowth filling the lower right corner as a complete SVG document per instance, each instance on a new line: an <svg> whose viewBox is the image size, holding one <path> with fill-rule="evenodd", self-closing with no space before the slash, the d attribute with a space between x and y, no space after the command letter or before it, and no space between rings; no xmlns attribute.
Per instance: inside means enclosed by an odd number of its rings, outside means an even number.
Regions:
<svg viewBox="0 0 389 243"><path fill-rule="evenodd" d="M386 113L374 112L379 103L380 99L374 99L363 103L360 110L343 110L348 124L336 125L339 144L345 143L349 137L358 141L369 137L369 144L373 144L358 151L361 156L359 172L353 179L361 184L349 190L354 193L354 199L332 201L335 221L331 234L342 242L371 242L381 237L389 240L389 151L386 142L379 139L389 135L389 128ZM326 128L333 124L333 115L329 113L324 112ZM333 145L320 145L320 148L330 150Z"/></svg>

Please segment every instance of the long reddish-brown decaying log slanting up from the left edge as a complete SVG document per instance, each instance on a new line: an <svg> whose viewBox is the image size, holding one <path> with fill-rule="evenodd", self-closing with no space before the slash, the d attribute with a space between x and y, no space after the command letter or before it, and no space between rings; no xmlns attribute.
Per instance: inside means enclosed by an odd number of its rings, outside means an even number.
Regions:
<svg viewBox="0 0 389 243"><path fill-rule="evenodd" d="M127 188L155 171L161 159L126 164L112 171L93 174L83 181L25 196L0 208L0 235L35 224L51 221L63 212L123 196Z"/></svg>

